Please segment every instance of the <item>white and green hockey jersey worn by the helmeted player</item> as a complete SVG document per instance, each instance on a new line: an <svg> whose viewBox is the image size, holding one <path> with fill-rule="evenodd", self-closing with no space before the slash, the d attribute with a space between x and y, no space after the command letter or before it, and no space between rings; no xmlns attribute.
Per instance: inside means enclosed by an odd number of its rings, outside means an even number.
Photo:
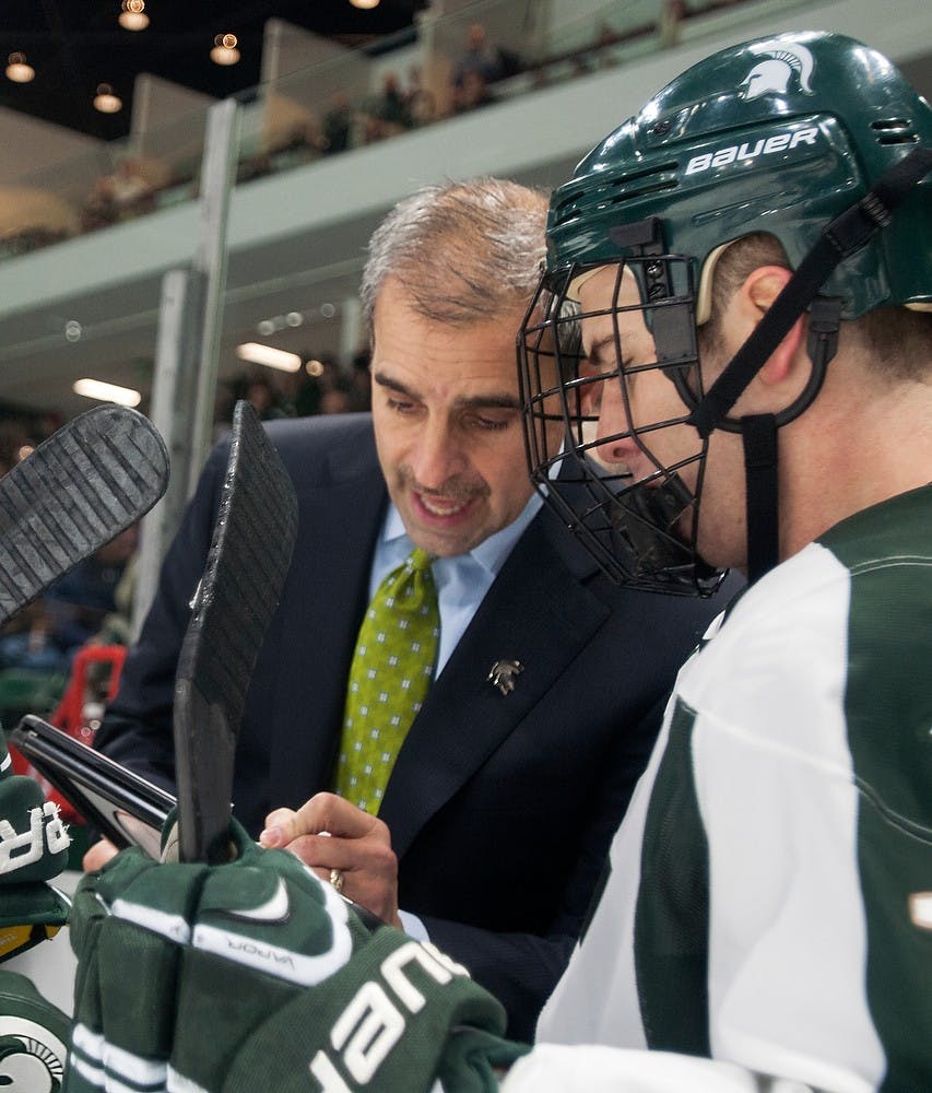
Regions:
<svg viewBox="0 0 932 1093"><path fill-rule="evenodd" d="M686 665L538 1038L932 1088L932 489L779 566Z"/></svg>

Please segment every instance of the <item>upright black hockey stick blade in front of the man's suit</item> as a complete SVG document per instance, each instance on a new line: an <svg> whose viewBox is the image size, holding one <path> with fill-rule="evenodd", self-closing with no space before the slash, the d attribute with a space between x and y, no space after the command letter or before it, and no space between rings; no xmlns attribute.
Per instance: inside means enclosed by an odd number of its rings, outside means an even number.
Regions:
<svg viewBox="0 0 932 1093"><path fill-rule="evenodd" d="M237 402L213 540L175 679L178 854L227 859L236 737L297 532L297 498L256 411Z"/></svg>

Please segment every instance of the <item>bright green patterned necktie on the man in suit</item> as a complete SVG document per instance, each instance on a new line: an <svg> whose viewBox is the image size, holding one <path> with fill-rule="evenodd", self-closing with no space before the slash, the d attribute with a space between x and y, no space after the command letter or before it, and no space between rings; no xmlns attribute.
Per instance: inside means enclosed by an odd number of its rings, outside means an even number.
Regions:
<svg viewBox="0 0 932 1093"><path fill-rule="evenodd" d="M440 615L432 557L420 548L382 580L350 667L337 792L375 815L434 675Z"/></svg>

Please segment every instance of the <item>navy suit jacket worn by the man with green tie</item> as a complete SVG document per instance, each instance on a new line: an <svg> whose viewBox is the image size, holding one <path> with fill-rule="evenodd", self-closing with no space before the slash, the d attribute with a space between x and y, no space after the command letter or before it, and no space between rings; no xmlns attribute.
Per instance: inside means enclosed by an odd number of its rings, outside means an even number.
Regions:
<svg viewBox="0 0 932 1093"><path fill-rule="evenodd" d="M235 812L253 835L271 809L332 788L387 505L367 414L268 428L300 516L237 747ZM207 463L97 732L102 751L169 788L175 668L226 455ZM414 720L379 812L399 902L502 999L514 1036L531 1035L563 971L676 669L722 606L613 586L544 508ZM510 694L487 681L505 658L524 666Z"/></svg>

